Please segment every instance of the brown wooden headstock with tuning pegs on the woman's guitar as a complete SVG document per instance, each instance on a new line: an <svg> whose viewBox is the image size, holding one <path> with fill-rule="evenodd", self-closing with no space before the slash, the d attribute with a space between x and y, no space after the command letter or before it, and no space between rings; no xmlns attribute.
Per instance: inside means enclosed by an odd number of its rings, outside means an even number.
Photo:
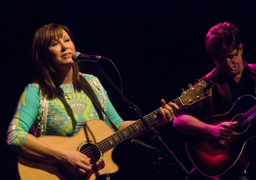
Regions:
<svg viewBox="0 0 256 180"><path fill-rule="evenodd" d="M201 81L196 86L190 86L190 89L183 91L179 97L179 100L181 101L182 105L191 105L211 95L210 85L204 81Z"/></svg>

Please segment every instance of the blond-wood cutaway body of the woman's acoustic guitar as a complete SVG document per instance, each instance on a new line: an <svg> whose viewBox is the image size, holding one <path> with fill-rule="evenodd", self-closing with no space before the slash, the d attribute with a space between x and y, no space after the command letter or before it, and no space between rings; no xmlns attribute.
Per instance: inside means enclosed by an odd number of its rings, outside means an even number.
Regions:
<svg viewBox="0 0 256 180"><path fill-rule="evenodd" d="M92 150L98 151L96 157L91 158L92 170L85 176L73 177L67 169L59 165L45 164L41 161L35 161L23 156L19 156L18 159L18 171L22 180L27 179L83 179L93 180L97 176L102 174L109 174L118 171L118 166L112 160L112 151L114 148L102 153L97 148L96 142L114 134L112 128L101 120L90 120L83 125L77 135L73 137L59 137L59 136L45 136L38 139L49 145L69 150L69 151L82 151L88 147L92 147Z"/></svg>

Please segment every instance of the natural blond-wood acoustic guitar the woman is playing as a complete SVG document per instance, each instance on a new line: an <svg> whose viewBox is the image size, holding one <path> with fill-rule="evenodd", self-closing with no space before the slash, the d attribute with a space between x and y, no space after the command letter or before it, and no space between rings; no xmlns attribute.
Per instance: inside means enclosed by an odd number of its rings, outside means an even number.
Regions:
<svg viewBox="0 0 256 180"><path fill-rule="evenodd" d="M204 81L193 88L184 91L174 102L179 106L191 105L211 95L211 89L206 88ZM144 117L148 124L158 121L159 109ZM18 172L22 180L93 180L102 174L114 173L118 166L112 160L112 151L119 143L136 135L145 128L141 120L114 133L112 128L101 120L90 120L83 125L77 135L73 137L43 136L38 139L52 146L80 151L91 158L92 170L84 176L74 177L60 164L49 165L23 156L18 159Z"/></svg>

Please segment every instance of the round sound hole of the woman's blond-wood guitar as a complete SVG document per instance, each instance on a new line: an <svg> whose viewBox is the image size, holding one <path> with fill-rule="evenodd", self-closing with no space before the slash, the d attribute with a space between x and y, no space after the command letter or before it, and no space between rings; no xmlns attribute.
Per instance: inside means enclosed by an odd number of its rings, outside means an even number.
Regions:
<svg viewBox="0 0 256 180"><path fill-rule="evenodd" d="M84 155L91 159L91 165L100 163L102 155L99 147L96 144L92 142L84 143L80 147L79 152L83 153Z"/></svg>

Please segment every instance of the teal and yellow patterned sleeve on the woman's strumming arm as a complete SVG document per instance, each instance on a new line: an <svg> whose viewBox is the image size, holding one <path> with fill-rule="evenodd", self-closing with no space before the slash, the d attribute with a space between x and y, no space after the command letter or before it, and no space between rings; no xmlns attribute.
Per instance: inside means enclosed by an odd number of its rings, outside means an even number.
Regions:
<svg viewBox="0 0 256 180"><path fill-rule="evenodd" d="M32 127L39 110L40 92L35 84L29 84L19 98L16 111L8 126L7 145L18 151Z"/></svg>

